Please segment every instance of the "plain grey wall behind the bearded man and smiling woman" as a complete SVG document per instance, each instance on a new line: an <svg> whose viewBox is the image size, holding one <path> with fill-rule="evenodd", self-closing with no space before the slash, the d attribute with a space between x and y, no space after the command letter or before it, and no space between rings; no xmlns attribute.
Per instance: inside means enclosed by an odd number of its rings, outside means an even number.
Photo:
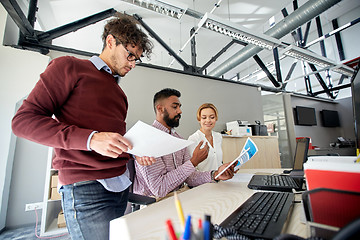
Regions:
<svg viewBox="0 0 360 240"><path fill-rule="evenodd" d="M246 120L255 124L255 120L263 122L264 119L261 92L256 87L142 66L124 77L120 86L129 101L128 128L137 120L153 123L154 94L167 87L181 92L183 114L177 131L184 138L199 128L196 112L205 102L213 103L219 111L219 120L214 129L218 132L226 129L226 122L229 121Z"/></svg>

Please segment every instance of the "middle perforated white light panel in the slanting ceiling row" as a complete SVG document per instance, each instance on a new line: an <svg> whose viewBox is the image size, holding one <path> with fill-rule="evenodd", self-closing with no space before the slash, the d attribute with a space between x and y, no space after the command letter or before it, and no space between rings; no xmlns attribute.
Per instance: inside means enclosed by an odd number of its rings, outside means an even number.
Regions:
<svg viewBox="0 0 360 240"><path fill-rule="evenodd" d="M200 20L198 27L204 27L233 39L268 50L272 50L273 48L282 45L276 38L272 38L262 33L255 33L250 29L219 18L211 13L205 13L203 18Z"/></svg>

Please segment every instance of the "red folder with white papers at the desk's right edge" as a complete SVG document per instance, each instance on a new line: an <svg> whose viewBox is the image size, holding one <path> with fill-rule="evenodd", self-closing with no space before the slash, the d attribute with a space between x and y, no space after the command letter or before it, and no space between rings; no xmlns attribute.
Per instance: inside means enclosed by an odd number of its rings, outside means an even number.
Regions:
<svg viewBox="0 0 360 240"><path fill-rule="evenodd" d="M312 221L343 227L360 217L360 164L354 161L309 161L304 164L308 190L328 188L309 195ZM338 191L340 190L340 192ZM345 194L349 191L354 194Z"/></svg>

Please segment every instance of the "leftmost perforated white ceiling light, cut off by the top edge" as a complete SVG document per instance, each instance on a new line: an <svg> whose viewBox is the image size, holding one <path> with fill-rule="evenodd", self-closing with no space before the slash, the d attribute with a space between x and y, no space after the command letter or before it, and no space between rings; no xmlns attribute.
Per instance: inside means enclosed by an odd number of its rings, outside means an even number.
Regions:
<svg viewBox="0 0 360 240"><path fill-rule="evenodd" d="M159 14L167 15L175 19L181 19L184 16L187 6L183 4L170 4L159 0L122 0L123 2L143 7Z"/></svg>

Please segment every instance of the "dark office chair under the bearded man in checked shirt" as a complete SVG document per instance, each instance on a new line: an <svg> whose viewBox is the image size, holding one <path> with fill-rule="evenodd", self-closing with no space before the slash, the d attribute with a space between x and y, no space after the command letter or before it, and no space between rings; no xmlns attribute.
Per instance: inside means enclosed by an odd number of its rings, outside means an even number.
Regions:
<svg viewBox="0 0 360 240"><path fill-rule="evenodd" d="M130 173L130 181L133 183L135 174L136 174L134 159L130 159L128 161L127 167L129 169L129 173ZM149 204L156 202L155 198L133 193L133 185L132 184L131 184L129 190L130 191L129 191L129 197L128 197L128 206L125 210L125 214L139 210L141 205L149 205Z"/></svg>

